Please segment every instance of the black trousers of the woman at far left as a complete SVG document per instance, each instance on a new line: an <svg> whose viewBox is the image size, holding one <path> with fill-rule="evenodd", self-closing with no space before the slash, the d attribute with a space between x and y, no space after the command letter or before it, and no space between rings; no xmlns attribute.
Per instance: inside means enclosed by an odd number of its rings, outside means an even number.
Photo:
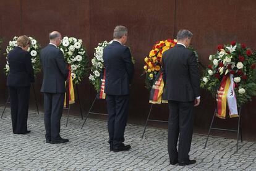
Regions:
<svg viewBox="0 0 256 171"><path fill-rule="evenodd" d="M30 86L9 86L13 133L25 133L28 130L28 106Z"/></svg>

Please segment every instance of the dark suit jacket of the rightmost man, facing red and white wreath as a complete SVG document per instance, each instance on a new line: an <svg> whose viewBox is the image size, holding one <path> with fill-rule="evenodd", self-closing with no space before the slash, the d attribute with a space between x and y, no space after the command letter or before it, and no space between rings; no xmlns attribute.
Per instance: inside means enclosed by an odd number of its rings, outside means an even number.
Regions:
<svg viewBox="0 0 256 171"><path fill-rule="evenodd" d="M176 44L164 52L162 71L168 100L188 102L200 96L200 78L194 52Z"/></svg>

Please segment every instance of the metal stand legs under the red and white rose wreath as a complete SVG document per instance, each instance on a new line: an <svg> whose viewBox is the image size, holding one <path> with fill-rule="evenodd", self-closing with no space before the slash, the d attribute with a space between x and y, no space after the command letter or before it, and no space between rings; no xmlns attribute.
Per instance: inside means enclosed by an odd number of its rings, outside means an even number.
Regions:
<svg viewBox="0 0 256 171"><path fill-rule="evenodd" d="M239 116L238 116L238 125L237 125L237 130L230 130L230 129L223 129L223 128L214 128L213 126L213 120L215 119L215 114L216 114L217 109L215 109L215 112L213 113L213 119L211 120L211 125L208 131L208 135L207 135L207 140L205 141L205 147L203 149L206 148L207 146L207 141L208 138L210 136L210 131L211 130L221 130L221 131L234 131L237 132L237 141L236 141L236 153L238 151L238 143L239 143L239 134L241 136L241 142L242 142L242 125L241 125L241 107L239 107Z"/></svg>

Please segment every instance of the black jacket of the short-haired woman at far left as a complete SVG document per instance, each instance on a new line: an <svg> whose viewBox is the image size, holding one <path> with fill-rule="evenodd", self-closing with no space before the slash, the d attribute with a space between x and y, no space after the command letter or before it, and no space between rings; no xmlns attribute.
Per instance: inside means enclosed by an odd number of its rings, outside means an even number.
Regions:
<svg viewBox="0 0 256 171"><path fill-rule="evenodd" d="M17 46L7 56L7 86L30 86L35 81L30 53Z"/></svg>

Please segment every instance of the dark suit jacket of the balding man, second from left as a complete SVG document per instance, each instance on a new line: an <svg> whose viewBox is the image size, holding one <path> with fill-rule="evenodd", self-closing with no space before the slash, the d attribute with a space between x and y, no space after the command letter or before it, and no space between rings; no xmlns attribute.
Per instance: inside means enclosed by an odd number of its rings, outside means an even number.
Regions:
<svg viewBox="0 0 256 171"><path fill-rule="evenodd" d="M64 93L65 80L69 75L64 56L53 44L48 44L40 52L40 61L43 66L43 93Z"/></svg>

